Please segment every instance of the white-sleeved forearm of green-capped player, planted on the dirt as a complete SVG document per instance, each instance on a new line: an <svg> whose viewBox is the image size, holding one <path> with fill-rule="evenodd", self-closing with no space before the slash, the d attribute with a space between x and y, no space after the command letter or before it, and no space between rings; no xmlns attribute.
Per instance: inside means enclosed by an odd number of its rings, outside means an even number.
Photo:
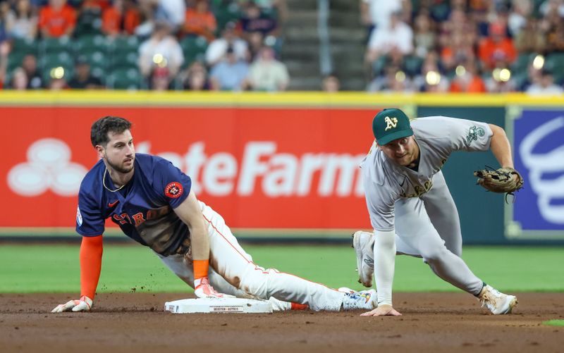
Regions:
<svg viewBox="0 0 564 353"><path fill-rule="evenodd" d="M378 304L392 304L393 273L396 266L396 233L374 230L374 275Z"/></svg>

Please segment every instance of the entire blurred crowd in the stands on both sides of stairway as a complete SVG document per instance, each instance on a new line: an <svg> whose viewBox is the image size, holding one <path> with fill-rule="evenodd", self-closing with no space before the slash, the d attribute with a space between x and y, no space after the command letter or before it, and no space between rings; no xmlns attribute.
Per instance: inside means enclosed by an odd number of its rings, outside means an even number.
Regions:
<svg viewBox="0 0 564 353"><path fill-rule="evenodd" d="M0 87L281 91L286 0L0 0ZM564 0L360 0L371 92L562 94ZM338 14L332 14L338 16ZM328 75L321 89L339 89Z"/></svg>

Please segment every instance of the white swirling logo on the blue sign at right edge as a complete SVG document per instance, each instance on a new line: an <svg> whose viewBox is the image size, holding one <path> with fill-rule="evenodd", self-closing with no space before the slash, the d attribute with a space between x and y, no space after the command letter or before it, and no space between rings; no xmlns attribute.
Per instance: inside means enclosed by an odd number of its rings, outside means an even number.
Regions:
<svg viewBox="0 0 564 353"><path fill-rule="evenodd" d="M554 118L535 128L523 138L519 151L523 164L529 169L529 182L537 194L541 216L551 223L564 224L564 144L546 153L534 151L541 142L564 129L564 116ZM562 136L562 135L560 135ZM560 143L563 140L559 140Z"/></svg>

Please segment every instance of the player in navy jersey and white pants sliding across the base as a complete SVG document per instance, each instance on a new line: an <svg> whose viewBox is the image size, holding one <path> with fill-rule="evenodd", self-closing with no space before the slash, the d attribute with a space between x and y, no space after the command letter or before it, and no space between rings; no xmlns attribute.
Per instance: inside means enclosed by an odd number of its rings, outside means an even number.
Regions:
<svg viewBox="0 0 564 353"><path fill-rule="evenodd" d="M197 297L268 299L273 310L374 308L374 290L340 292L254 264L223 218L197 200L188 175L161 157L135 154L130 128L128 120L111 116L92 125L90 138L100 160L78 195L81 295L52 312L92 308L106 218L150 247Z"/></svg>

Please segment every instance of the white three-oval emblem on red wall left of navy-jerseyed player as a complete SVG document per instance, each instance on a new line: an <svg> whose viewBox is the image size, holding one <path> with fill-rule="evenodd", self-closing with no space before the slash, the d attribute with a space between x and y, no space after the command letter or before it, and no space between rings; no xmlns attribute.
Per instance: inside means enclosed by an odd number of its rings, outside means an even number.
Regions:
<svg viewBox="0 0 564 353"><path fill-rule="evenodd" d="M78 194L87 169L71 162L71 149L61 140L37 140L27 149L27 161L8 172L8 187L21 196L33 197L51 190L60 196Z"/></svg>

